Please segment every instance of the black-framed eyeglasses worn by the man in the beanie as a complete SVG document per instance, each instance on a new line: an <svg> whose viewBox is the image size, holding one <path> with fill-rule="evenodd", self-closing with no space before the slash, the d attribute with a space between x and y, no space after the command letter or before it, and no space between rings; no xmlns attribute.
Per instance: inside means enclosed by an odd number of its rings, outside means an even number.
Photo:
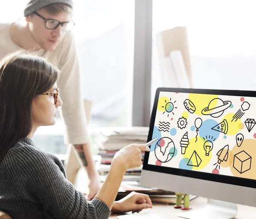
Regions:
<svg viewBox="0 0 256 219"><path fill-rule="evenodd" d="M38 17L41 17L44 20L44 25L45 25L46 29L54 30L59 25L61 25L61 28L63 31L69 32L75 26L75 23L73 22L73 20L59 22L58 20L47 19L47 18L43 17L42 15L38 14L37 12L34 12L34 14L36 14Z"/></svg>

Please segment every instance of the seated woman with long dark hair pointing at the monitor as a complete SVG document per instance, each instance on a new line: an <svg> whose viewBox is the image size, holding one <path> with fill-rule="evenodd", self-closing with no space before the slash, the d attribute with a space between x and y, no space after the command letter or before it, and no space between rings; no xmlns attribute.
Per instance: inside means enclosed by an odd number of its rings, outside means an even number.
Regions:
<svg viewBox="0 0 256 219"><path fill-rule="evenodd" d="M55 124L62 104L58 73L46 59L24 51L0 61L0 210L13 219L107 219L110 211L152 207L140 193L114 202L126 170L141 165L141 151L149 151L148 146L131 144L119 150L91 202L67 180L61 161L35 146L35 131Z"/></svg>

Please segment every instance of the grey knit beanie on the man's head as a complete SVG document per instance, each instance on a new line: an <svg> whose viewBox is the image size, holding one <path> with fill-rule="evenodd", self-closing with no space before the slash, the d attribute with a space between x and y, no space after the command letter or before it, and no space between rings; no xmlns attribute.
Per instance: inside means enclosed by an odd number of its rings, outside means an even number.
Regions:
<svg viewBox="0 0 256 219"><path fill-rule="evenodd" d="M24 10L24 16L28 16L29 14L42 9L45 6L56 3L62 3L73 8L72 0L29 0L26 4L26 9Z"/></svg>

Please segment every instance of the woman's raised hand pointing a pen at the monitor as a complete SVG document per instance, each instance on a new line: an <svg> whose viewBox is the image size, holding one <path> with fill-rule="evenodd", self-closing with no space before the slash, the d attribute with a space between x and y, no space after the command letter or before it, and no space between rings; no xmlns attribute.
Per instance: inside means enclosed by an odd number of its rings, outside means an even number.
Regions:
<svg viewBox="0 0 256 219"><path fill-rule="evenodd" d="M145 144L130 144L118 152L116 152L111 165L118 165L124 171L140 167L142 164L141 151L150 151L150 148Z"/></svg>

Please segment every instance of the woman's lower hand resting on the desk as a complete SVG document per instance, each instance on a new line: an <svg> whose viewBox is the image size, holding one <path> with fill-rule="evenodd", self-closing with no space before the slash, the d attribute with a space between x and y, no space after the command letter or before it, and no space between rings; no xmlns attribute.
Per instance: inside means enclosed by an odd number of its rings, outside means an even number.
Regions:
<svg viewBox="0 0 256 219"><path fill-rule="evenodd" d="M132 211L132 213L139 213L145 208L152 207L151 199L148 195L131 192L117 202L114 202L111 212L125 213Z"/></svg>

